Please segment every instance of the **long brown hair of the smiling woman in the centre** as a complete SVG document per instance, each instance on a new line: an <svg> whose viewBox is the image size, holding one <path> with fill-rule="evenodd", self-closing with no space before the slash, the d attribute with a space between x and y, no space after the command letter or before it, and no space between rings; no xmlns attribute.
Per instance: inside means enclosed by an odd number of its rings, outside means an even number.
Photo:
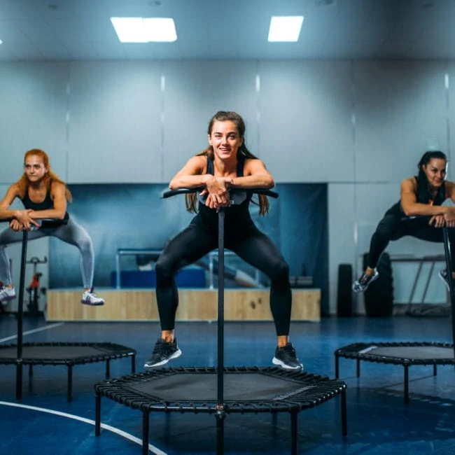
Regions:
<svg viewBox="0 0 455 455"><path fill-rule="evenodd" d="M258 157L253 155L248 148L245 145L245 123L244 119L241 118L241 116L234 111L218 111L209 121L209 127L207 128L207 134L211 134L211 130L214 128L214 123L215 122L233 122L235 123L235 127L237 127L237 132L239 133L239 136L243 138L244 140L241 143L241 146L239 147L239 150L237 151L237 158L239 158L239 155L244 155L245 158L248 158L250 160L258 160ZM214 148L212 146L208 146L206 149L204 149L202 152L197 153L196 156L199 155L206 155L210 160L214 159ZM251 200L253 204L256 204L259 206L259 214L260 215L265 215L269 211L269 200L267 200L267 197L264 195L258 195L258 202L255 202ZM186 209L188 211L197 211L196 209L196 204L197 204L197 196L195 193L190 193L189 195L186 195Z"/></svg>

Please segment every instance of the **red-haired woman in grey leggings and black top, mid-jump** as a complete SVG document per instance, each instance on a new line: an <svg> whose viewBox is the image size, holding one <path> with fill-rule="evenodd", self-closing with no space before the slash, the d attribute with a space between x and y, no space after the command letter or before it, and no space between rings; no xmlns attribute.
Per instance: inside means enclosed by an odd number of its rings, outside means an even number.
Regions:
<svg viewBox="0 0 455 455"><path fill-rule="evenodd" d="M104 300L93 292L94 253L92 239L85 229L78 225L66 211L66 201L71 202L71 193L64 181L52 172L48 155L37 148L25 153L25 172L8 188L0 202L0 218L13 218L10 229L0 232L0 301L15 298L15 288L10 274L10 261L6 246L22 241L20 231L27 229L29 240L52 236L76 246L80 251L80 269L83 279L83 294L80 302L88 305L102 305ZM18 197L25 209L11 210ZM48 220L52 218L52 221ZM39 222L41 219L46 221Z"/></svg>

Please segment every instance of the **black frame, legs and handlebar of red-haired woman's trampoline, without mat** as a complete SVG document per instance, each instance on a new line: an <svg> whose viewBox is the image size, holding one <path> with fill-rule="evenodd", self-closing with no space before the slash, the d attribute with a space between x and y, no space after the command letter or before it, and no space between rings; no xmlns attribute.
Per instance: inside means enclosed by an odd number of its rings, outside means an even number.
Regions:
<svg viewBox="0 0 455 455"><path fill-rule="evenodd" d="M10 221L8 219L2 219L1 222ZM53 220L41 220L41 221L53 221ZM81 365L84 363L94 363L105 361L106 362L106 377L110 374L110 360L116 358L132 358L132 373L135 372L136 365L136 354L137 352L127 346L121 346L120 344L114 343L23 343L22 342L22 330L23 330L23 318L24 318L24 293L25 293L25 267L27 264L27 242L28 242L28 230L22 231L22 251L20 259L20 284L18 293L18 344L4 345L0 344L0 365L16 365L16 400L22 400L22 383L23 383L23 366L29 365L29 376L33 376L33 365L66 365L68 367L68 383L66 398L70 402L73 399L72 388L73 388L73 365ZM114 349L115 352L103 353L93 356L77 356L67 358L24 358L23 348L31 346L46 346L52 348L55 346L92 346L92 347L103 347L104 349ZM5 349L16 348L17 353L15 358L6 357L1 358L1 351Z"/></svg>

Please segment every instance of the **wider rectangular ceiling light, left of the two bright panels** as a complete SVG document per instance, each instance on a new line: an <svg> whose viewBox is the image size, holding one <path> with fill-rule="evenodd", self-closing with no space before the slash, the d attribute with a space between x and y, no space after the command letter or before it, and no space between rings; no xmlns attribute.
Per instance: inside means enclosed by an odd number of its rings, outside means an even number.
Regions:
<svg viewBox="0 0 455 455"><path fill-rule="evenodd" d="M111 18L111 22L122 43L177 40L172 18Z"/></svg>

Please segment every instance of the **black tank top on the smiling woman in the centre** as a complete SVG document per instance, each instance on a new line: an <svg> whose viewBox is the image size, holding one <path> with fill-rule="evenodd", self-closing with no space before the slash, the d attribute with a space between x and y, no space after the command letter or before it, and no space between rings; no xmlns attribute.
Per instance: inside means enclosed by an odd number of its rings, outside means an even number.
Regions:
<svg viewBox="0 0 455 455"><path fill-rule="evenodd" d="M245 157L240 155L237 161L237 177L244 176ZM214 160L207 157L207 174L214 175ZM225 226L235 227L253 224L251 219L249 204L253 193L246 191L246 199L241 204L232 204L231 207L225 208ZM199 202L197 209L197 216L193 220L195 223L200 224L206 230L218 230L218 214L215 209L209 209L202 202Z"/></svg>

